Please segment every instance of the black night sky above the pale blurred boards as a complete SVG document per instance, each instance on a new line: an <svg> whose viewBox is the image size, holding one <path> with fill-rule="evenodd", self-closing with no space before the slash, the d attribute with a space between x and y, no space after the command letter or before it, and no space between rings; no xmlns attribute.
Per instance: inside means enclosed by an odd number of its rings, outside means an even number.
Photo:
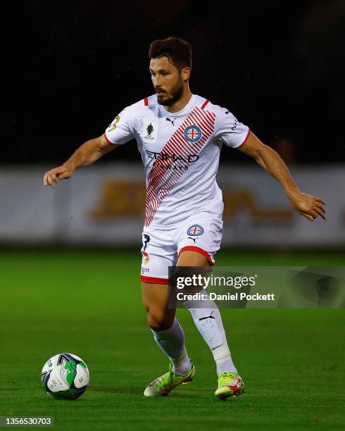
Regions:
<svg viewBox="0 0 345 431"><path fill-rule="evenodd" d="M345 161L345 1L30 1L3 15L1 163L65 161L125 106L153 94L147 51L192 44L191 90L292 160ZM135 144L134 144L135 145ZM127 144L106 158L139 161ZM136 150L136 147L135 147ZM222 159L247 160L223 149Z"/></svg>

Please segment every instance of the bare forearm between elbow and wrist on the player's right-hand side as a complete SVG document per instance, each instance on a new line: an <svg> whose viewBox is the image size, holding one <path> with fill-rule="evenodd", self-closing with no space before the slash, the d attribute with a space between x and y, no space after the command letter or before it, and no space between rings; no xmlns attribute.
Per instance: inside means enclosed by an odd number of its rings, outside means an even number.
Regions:
<svg viewBox="0 0 345 431"><path fill-rule="evenodd" d="M258 158L256 161L261 165L272 177L282 185L287 196L292 196L299 192L296 182L291 177L287 165L284 163L282 158L277 152L265 145L264 148L259 151Z"/></svg>

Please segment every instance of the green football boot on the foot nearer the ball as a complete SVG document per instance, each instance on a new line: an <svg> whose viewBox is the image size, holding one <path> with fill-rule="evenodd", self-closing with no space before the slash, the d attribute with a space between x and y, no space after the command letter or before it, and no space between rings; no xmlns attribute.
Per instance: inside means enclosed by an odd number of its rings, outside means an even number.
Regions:
<svg viewBox="0 0 345 431"><path fill-rule="evenodd" d="M172 389L181 385L181 383L189 383L192 382L195 375L195 367L192 364L190 370L187 374L180 375L175 374L172 371L172 365L169 364L169 371L161 375L161 377L157 377L156 380L153 380L146 387L144 391L145 396L167 396Z"/></svg>

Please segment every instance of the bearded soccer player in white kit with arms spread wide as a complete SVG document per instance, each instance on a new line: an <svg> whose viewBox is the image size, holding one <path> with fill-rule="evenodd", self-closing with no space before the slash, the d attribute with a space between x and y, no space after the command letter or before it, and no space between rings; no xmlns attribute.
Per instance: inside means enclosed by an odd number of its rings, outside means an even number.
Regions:
<svg viewBox="0 0 345 431"><path fill-rule="evenodd" d="M280 182L291 205L307 220L318 215L325 219L326 211L325 201L300 192L280 156L249 127L226 108L190 92L189 43L175 37L156 40L149 58L155 94L123 109L102 136L85 142L63 165L45 173L44 185L54 187L77 168L131 139L137 141L146 173L142 298L153 337L170 359L168 373L153 380L144 395L166 396L195 375L184 332L175 309L168 306L168 267L214 264L222 237L222 192L215 181L222 144L253 157ZM226 399L244 392L215 303L208 300L197 308L194 301L186 301L184 306L215 359L215 396Z"/></svg>

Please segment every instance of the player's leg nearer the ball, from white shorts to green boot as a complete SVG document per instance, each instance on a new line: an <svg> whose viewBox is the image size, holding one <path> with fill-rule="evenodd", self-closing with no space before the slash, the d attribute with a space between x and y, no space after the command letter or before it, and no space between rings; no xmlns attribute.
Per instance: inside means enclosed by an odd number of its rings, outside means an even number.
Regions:
<svg viewBox="0 0 345 431"><path fill-rule="evenodd" d="M153 338L171 362L170 370L146 387L146 396L166 396L174 387L192 381L195 374L184 346L184 332L169 308L168 266L176 251L169 235L146 231L143 234L142 299ZM145 275L144 275L145 274Z"/></svg>

